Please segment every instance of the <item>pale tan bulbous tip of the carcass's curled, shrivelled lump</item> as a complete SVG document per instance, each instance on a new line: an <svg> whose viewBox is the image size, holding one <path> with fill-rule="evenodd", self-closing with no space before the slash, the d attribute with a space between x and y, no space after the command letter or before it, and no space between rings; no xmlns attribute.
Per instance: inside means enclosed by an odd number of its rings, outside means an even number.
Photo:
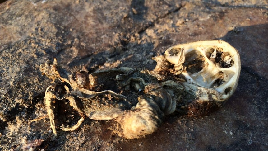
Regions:
<svg viewBox="0 0 268 151"><path fill-rule="evenodd" d="M115 132L124 138L134 139L152 134L164 120L164 113L151 97L140 96L133 111L126 111L117 119Z"/></svg>

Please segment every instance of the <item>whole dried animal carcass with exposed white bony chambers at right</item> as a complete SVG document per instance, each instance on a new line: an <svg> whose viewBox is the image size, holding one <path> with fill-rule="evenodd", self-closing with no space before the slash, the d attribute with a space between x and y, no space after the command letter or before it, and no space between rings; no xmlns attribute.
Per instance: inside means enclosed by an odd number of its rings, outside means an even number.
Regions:
<svg viewBox="0 0 268 151"><path fill-rule="evenodd" d="M43 64L41 71L53 81L45 93L45 103L56 135L54 100L68 100L81 119L71 128L81 125L85 115L91 119L118 121L114 132L127 139L153 133L165 115L173 112L188 116L203 116L222 106L237 87L240 74L238 51L222 40L207 40L175 45L164 55L153 57L154 70L117 68L94 73L68 73L57 62ZM113 79L105 75L113 75ZM110 76L109 76L110 77ZM113 80L116 85L105 86ZM60 87L60 88L58 88ZM109 90L113 89L116 92ZM130 89L143 92L138 103L130 106Z"/></svg>

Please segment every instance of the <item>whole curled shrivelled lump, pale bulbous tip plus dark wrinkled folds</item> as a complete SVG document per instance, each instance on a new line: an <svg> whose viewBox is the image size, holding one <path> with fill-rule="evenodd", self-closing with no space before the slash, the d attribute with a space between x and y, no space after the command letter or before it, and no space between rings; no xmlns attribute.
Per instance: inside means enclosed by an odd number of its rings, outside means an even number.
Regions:
<svg viewBox="0 0 268 151"><path fill-rule="evenodd" d="M117 119L116 132L127 139L140 138L157 130L165 118L165 113L175 111L175 103L170 95L158 84L148 85L149 91L138 97L139 103L132 111L126 111Z"/></svg>

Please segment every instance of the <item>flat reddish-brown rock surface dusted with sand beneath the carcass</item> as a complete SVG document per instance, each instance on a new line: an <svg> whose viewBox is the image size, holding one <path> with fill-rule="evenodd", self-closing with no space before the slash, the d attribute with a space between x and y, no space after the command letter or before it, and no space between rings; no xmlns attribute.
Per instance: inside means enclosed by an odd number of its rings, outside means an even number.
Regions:
<svg viewBox="0 0 268 151"><path fill-rule="evenodd" d="M0 150L267 150L268 3L244 1L40 1L0 4ZM166 117L159 129L126 140L113 120L86 119L53 137L39 65L58 59L71 72L155 67L172 45L222 39L240 53L238 88L209 116ZM27 148L28 147L28 148Z"/></svg>

